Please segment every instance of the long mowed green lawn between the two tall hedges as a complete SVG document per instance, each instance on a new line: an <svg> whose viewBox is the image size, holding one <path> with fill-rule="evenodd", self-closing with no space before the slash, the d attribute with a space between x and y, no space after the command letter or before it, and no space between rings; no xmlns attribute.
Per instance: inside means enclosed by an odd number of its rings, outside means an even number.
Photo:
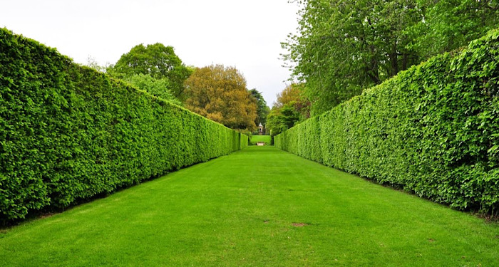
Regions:
<svg viewBox="0 0 499 267"><path fill-rule="evenodd" d="M499 266L499 225L249 147L0 234L1 266Z"/></svg>

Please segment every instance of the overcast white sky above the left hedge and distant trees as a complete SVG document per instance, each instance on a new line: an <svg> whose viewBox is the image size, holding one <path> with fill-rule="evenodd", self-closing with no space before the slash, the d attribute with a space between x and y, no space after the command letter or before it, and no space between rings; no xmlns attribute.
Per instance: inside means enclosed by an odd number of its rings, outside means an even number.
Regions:
<svg viewBox="0 0 499 267"><path fill-rule="evenodd" d="M83 64L163 43L186 65L235 66L272 106L289 78L280 43L296 31L298 9L287 0L0 0L0 27Z"/></svg>

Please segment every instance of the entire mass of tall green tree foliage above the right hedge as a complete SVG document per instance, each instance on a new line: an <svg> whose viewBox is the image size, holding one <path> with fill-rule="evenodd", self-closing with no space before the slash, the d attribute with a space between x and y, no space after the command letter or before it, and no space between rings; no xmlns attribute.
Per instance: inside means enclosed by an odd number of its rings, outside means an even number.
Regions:
<svg viewBox="0 0 499 267"><path fill-rule="evenodd" d="M284 61L317 115L499 22L497 1L304 0Z"/></svg>

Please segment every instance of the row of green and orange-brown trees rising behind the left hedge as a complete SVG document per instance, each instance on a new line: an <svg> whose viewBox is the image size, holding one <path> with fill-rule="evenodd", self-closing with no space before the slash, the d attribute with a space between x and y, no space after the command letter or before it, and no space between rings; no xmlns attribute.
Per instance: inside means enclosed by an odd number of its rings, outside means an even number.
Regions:
<svg viewBox="0 0 499 267"><path fill-rule="evenodd" d="M232 129L254 131L269 113L262 94L248 90L236 68L185 66L173 47L162 43L134 46L107 67L90 57L88 66Z"/></svg>

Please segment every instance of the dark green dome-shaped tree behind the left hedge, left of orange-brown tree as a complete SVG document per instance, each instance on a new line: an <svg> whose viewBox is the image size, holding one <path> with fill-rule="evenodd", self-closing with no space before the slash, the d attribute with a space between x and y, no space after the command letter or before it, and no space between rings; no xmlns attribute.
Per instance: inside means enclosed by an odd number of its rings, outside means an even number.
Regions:
<svg viewBox="0 0 499 267"><path fill-rule="evenodd" d="M115 78L130 78L133 75L145 74L155 79L168 80L169 90L175 98L183 99L184 81L191 71L180 58L175 55L172 46L162 43L144 46L134 46L130 52L123 54L114 66L108 68L108 73Z"/></svg>

